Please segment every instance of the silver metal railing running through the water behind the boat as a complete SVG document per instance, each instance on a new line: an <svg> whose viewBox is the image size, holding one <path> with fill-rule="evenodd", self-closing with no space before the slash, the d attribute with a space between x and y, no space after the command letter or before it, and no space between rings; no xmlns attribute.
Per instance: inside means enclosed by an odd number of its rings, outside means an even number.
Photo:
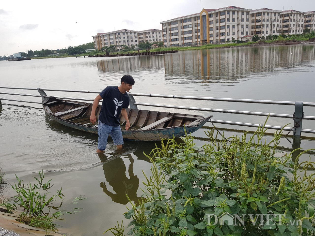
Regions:
<svg viewBox="0 0 315 236"><path fill-rule="evenodd" d="M28 96L28 97L41 97L42 99L47 98L45 91L54 91L54 92L72 92L72 93L97 93L101 91L90 91L90 90L69 90L69 89L50 89L50 88L26 88L26 87L0 87L3 89L23 89L23 90L37 90L40 95L33 94L24 94L24 93L6 93L0 92L0 94L7 95L18 95L18 96ZM206 100L206 101L223 101L223 102L238 102L238 103L255 103L255 104L273 104L273 105L294 105L295 106L295 117L290 114L279 114L279 113L266 113L266 112L254 112L254 111L241 111L241 110L225 110L225 109L212 109L212 108L202 108L202 107L186 107L186 106L175 106L175 105L165 105L165 104L151 104L151 103L139 103L135 101L135 96L140 97L154 97L154 98L176 98L176 99L193 99L193 100ZM146 94L146 93L129 93L130 97L130 108L138 109L138 105L141 106L150 106L150 107L164 107L164 108L174 108L174 109L184 109L184 110L198 110L198 111L212 111L212 112L221 112L221 113L230 113L230 114L243 114L243 115L257 115L257 116L271 116L279 118L294 118L295 125L294 127L285 127L285 131L294 131L295 136L301 136L301 132L304 133L315 133L313 129L302 129L302 120L315 120L315 116L306 116L303 113L303 107L315 107L315 103L312 102L294 102L294 101L277 101L277 100L257 100L257 99L239 99L239 98L212 98L212 97L194 97L194 96L178 96L178 95L163 95L163 94ZM81 101L94 101L94 99L88 98L72 98L72 97L56 97L60 99L67 100L81 100ZM6 101L16 101L16 102L26 102L26 103L36 103L41 104L41 102L28 101L28 100L17 100L9 98L0 98L1 100ZM302 119L301 119L302 118ZM235 126L245 126L245 127L258 127L259 124L244 123L244 122L235 122L235 121L221 121L221 120L212 120L213 123L217 124L227 124ZM281 130L281 126L272 126L266 125L266 128Z"/></svg>

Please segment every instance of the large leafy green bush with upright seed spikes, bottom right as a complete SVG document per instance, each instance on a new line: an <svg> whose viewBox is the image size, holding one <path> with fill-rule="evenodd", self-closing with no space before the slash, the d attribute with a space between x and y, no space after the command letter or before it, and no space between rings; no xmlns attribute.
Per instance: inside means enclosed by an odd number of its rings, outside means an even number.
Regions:
<svg viewBox="0 0 315 236"><path fill-rule="evenodd" d="M218 140L196 147L163 140L149 155L150 176L144 173L143 199L130 201L124 214L127 235L314 235L315 162L299 162L305 150L276 149L281 131L263 139L263 126L249 136ZM123 223L108 231L123 236ZM106 231L107 232L107 231ZM105 232L104 232L105 233Z"/></svg>

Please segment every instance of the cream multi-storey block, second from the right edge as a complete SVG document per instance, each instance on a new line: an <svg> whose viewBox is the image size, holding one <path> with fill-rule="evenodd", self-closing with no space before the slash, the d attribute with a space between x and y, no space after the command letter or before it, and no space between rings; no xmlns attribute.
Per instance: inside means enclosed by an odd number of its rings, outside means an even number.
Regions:
<svg viewBox="0 0 315 236"><path fill-rule="evenodd" d="M280 14L280 34L302 34L304 25L304 14L302 11L284 10Z"/></svg>

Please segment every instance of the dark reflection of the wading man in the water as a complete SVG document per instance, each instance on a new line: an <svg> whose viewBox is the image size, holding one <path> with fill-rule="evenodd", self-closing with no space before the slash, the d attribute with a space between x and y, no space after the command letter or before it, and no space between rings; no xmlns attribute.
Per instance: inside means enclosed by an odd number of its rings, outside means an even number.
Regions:
<svg viewBox="0 0 315 236"><path fill-rule="evenodd" d="M126 205L129 202L126 194L130 200L135 201L135 203L138 203L138 199L140 199L140 197L137 197L139 179L133 173L134 160L130 154L126 157L128 157L130 161L128 168L130 179L128 179L126 176L126 166L122 158L116 158L112 161L106 162L103 165L106 181L113 187L113 191L116 192L116 194L113 194L107 190L105 182L100 183L100 187L103 188L104 193L110 196L114 202L123 205Z"/></svg>

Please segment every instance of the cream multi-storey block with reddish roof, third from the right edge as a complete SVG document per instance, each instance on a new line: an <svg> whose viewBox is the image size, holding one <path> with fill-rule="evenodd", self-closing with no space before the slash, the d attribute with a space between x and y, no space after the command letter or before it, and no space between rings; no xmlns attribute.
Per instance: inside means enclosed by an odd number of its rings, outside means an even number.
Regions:
<svg viewBox="0 0 315 236"><path fill-rule="evenodd" d="M261 8L249 12L250 36L266 37L279 35L280 15L282 11Z"/></svg>

